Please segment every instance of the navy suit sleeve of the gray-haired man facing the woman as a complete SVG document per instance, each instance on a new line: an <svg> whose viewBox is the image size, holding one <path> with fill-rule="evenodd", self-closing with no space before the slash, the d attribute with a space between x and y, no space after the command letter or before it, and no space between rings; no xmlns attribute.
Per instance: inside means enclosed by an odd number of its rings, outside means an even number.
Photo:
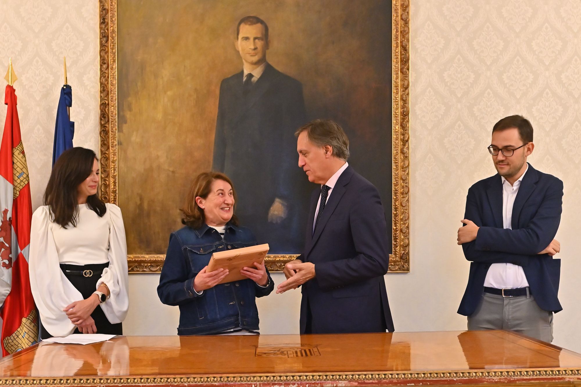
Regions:
<svg viewBox="0 0 581 387"><path fill-rule="evenodd" d="M315 276L323 290L383 276L388 272L389 238L379 192L369 185L363 187L359 197L360 200L349 212L357 255L315 265Z"/></svg>

